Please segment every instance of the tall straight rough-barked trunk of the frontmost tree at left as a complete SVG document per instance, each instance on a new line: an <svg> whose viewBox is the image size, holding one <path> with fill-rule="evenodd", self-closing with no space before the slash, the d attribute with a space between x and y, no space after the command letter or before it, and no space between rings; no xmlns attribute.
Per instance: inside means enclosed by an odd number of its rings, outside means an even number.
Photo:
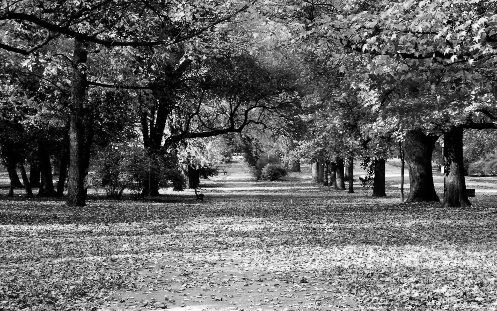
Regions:
<svg viewBox="0 0 497 311"><path fill-rule="evenodd" d="M84 206L84 110L86 95L86 58L87 51L83 42L74 39L73 64L75 66L69 116L69 179L67 205Z"/></svg>

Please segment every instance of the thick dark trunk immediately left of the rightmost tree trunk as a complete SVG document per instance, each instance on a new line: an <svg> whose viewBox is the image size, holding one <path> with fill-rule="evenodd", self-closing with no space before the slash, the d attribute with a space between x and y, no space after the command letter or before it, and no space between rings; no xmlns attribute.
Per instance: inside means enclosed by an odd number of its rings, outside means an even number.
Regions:
<svg viewBox="0 0 497 311"><path fill-rule="evenodd" d="M438 136L427 136L420 130L409 131L406 135L404 150L411 182L407 203L440 201L433 186L431 170L431 155L437 139Z"/></svg>

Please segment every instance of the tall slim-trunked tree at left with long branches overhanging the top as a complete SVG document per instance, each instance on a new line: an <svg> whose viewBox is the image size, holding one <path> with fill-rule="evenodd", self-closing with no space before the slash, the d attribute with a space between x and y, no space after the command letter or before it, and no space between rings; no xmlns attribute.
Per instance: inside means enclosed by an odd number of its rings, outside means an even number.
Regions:
<svg viewBox="0 0 497 311"><path fill-rule="evenodd" d="M178 12L175 4L150 1L87 0L61 5L60 1L3 1L0 19L9 29L4 42L22 42L17 45L0 44L12 53L49 59L45 47L56 43L61 35L74 38L71 104L70 104L70 173L68 205L84 205L84 98L90 74L88 50L93 46L154 47L174 46L195 42L198 36L216 25L231 20L247 9L247 5L184 5ZM235 7L233 9L233 7ZM201 16L197 18L195 14ZM119 17L120 16L120 17ZM161 25L162 27L158 27ZM98 48L95 51L99 51ZM43 54L45 52L45 54ZM64 56L64 55L63 55ZM65 57L65 56L64 56ZM93 83L100 85L98 83ZM140 88L140 86L137 86Z"/></svg>

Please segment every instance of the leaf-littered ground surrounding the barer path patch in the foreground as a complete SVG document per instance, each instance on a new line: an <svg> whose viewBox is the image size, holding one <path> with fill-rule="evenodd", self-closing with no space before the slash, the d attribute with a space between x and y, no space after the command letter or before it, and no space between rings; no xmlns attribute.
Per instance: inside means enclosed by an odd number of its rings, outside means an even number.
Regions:
<svg viewBox="0 0 497 311"><path fill-rule="evenodd" d="M313 273L366 310L497 310L497 219L488 206L400 205L292 174L249 191L206 187L205 203L189 193L74 208L3 198L0 310L100 310L113 292L140 288L138 271L164 252L206 249ZM200 218L209 225L184 225Z"/></svg>

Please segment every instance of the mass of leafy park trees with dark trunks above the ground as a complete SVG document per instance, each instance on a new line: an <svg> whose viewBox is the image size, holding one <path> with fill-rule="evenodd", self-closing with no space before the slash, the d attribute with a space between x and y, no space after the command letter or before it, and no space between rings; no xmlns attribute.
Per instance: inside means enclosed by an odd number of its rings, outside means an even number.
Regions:
<svg viewBox="0 0 497 311"><path fill-rule="evenodd" d="M129 176L157 195L180 164L198 185L209 137L267 134L285 161L323 163L338 188L344 163L375 159L375 195L385 159L405 154L407 202L439 201L431 157L443 135L443 206L469 206L462 137L496 128L496 16L449 4L5 0L2 159L24 184L39 171L46 194L50 159L59 195L69 168L67 204L84 205L91 159L116 143L145 150L147 177Z"/></svg>

